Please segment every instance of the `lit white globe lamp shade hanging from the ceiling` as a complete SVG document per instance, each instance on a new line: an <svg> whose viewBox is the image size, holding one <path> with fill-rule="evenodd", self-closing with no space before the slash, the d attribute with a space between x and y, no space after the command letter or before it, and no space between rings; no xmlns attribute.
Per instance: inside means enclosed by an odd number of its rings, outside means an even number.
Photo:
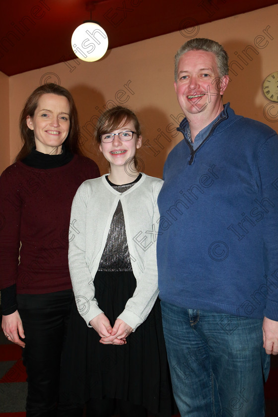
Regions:
<svg viewBox="0 0 278 417"><path fill-rule="evenodd" d="M72 33L71 48L80 60L94 62L107 51L108 36L97 22L87 20Z"/></svg>

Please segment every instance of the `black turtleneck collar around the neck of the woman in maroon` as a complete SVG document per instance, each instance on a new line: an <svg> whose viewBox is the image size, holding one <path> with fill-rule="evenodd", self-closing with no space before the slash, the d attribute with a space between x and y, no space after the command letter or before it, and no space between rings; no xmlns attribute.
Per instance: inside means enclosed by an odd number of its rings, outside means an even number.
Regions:
<svg viewBox="0 0 278 417"><path fill-rule="evenodd" d="M39 152L33 147L31 153L29 153L26 158L22 159L21 162L32 168L59 168L60 166L68 164L73 158L73 154L66 149L65 145L62 146L62 149L63 153L60 153L59 155L49 155L48 153Z"/></svg>

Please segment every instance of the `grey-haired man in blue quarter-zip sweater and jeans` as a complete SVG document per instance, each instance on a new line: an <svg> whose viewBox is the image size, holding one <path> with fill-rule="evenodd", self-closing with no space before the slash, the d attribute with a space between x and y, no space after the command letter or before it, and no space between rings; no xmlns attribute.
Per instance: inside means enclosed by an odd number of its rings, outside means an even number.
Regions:
<svg viewBox="0 0 278 417"><path fill-rule="evenodd" d="M184 139L165 163L157 237L174 395L182 417L263 417L278 353L278 135L223 105L221 45L192 39L175 59Z"/></svg>

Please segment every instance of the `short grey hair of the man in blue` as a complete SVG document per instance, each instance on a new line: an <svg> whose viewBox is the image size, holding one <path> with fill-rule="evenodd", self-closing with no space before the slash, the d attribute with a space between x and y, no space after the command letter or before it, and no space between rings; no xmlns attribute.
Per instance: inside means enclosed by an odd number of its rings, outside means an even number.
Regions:
<svg viewBox="0 0 278 417"><path fill-rule="evenodd" d="M180 58L183 54L189 51L206 51L212 52L216 57L217 68L219 76L222 78L224 75L228 75L229 66L228 66L228 54L222 47L211 39L206 38L195 38L190 39L185 44L183 44L178 52L175 55L175 81L178 80L178 65Z"/></svg>

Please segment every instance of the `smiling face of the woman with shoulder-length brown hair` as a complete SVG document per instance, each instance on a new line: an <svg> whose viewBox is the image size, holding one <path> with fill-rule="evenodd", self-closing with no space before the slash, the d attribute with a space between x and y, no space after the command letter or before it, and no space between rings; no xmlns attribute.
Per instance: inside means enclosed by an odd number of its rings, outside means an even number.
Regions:
<svg viewBox="0 0 278 417"><path fill-rule="evenodd" d="M62 143L70 131L70 103L67 97L42 94L34 116L27 116L26 123L34 131L36 150L59 154Z"/></svg>

